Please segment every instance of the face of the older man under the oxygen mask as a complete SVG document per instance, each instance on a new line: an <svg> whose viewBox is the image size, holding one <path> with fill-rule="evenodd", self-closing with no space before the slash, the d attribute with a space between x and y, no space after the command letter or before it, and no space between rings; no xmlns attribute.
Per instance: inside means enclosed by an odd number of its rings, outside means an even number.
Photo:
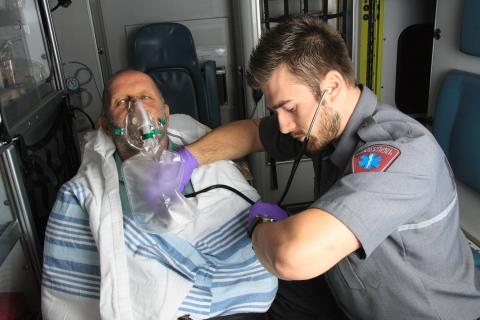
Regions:
<svg viewBox="0 0 480 320"><path fill-rule="evenodd" d="M111 125L123 128L128 114L129 99L141 99L145 110L150 113L152 119L165 118L168 126L169 108L163 101L156 84L152 79L138 71L126 71L117 75L108 85L108 107L107 116L110 119L110 126L105 123L102 127L107 134L112 136L117 152L123 160L135 155L138 151L130 147L124 136L114 136ZM164 148L168 141L164 139Z"/></svg>

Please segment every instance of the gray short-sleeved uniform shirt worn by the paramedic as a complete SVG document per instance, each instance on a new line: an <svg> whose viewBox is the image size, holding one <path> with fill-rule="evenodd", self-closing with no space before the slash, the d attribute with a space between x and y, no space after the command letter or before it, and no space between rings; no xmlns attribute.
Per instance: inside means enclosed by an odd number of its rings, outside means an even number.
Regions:
<svg viewBox="0 0 480 320"><path fill-rule="evenodd" d="M326 274L350 318L480 317L480 271L459 228L452 173L424 126L364 88L335 147L312 158L321 194L312 207L361 244Z"/></svg>

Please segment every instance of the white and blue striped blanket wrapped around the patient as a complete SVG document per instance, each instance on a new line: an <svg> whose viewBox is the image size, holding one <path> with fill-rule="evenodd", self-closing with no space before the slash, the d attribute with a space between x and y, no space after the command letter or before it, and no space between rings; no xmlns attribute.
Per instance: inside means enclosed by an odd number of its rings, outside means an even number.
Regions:
<svg viewBox="0 0 480 320"><path fill-rule="evenodd" d="M98 135L94 138L102 141ZM94 146L91 150L99 150L98 141ZM111 154L104 158L116 170ZM93 194L92 190L99 188L92 185L99 184L96 180L106 182L101 179L105 175L98 173L105 164L98 170L91 166L99 165L84 158L84 170L61 188L48 222L42 281L44 319L176 319L185 314L205 319L268 309L277 280L251 249L246 235L248 204L243 199L224 189L200 194L191 200L198 212L194 223L179 234L150 234L132 219L117 175L113 183L123 210L124 256L123 249L105 253L102 241L120 247L118 241L108 238L108 226L115 229L118 223L105 226L102 221L119 220L107 219L103 212L92 216L92 212L100 212L92 206L105 202ZM197 169L191 182L195 190L227 184L258 199L229 161ZM112 262L115 252L120 258Z"/></svg>

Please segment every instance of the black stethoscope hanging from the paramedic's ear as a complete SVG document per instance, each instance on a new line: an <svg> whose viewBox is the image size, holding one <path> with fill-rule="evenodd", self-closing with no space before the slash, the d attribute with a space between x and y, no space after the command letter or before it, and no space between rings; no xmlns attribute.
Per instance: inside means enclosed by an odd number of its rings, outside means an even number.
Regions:
<svg viewBox="0 0 480 320"><path fill-rule="evenodd" d="M285 189L283 191L283 194L282 196L280 197L280 199L277 201L277 205L278 206L281 206L282 205L282 202L283 200L285 199L286 195L288 194L288 190L290 189L290 185L292 184L292 181L293 181L293 178L295 176L295 172L297 171L297 168L298 168L298 165L300 164L300 160L302 159L304 153L305 153L305 150L307 148L307 145L308 145L308 141L310 140L310 135L312 133L312 130L313 128L315 127L315 121L317 119L317 116L318 116L318 113L320 111L320 106L322 105L323 103L323 100L325 98L325 95L327 93L330 93L332 91L331 88L327 88L325 90L322 91L321 95L320 95L320 100L317 104L317 107L315 108L315 113L313 114L313 117L312 117L312 121L310 122L310 126L308 127L308 131L307 131L307 134L305 136L305 139L303 140L302 142L302 147L300 148L300 151L298 152L297 156L295 157L294 161L293 161L293 164L292 164L292 169L290 171L290 175L288 177L288 180L287 180L287 185L285 186ZM235 188L232 188L230 186L227 186L227 185L224 185L224 184L215 184L215 185L212 185L212 186L209 186L209 187L206 187L202 190L199 190L199 191L196 191L196 192L193 192L193 193L190 193L190 194L187 194L185 195L186 198L191 198L191 197L195 197L196 195L200 194L200 193L204 193L204 192L207 192L207 191L210 191L210 190L213 190L213 189L217 189L217 188L223 188L223 189L227 189L227 190L230 190L232 192L234 192L235 194L237 194L238 196L240 196L241 198L243 198L245 201L247 201L248 203L250 203L251 205L253 205L255 203L255 201L253 201L252 199L248 198L246 195L244 195L242 192L238 191L237 189Z"/></svg>

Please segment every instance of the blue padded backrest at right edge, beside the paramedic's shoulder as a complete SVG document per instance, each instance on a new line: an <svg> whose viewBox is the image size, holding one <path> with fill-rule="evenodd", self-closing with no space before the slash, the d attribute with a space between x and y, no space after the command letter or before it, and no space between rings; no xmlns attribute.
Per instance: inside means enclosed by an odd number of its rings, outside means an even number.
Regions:
<svg viewBox="0 0 480 320"><path fill-rule="evenodd" d="M480 192L480 75L450 71L442 83L433 134L458 180Z"/></svg>

